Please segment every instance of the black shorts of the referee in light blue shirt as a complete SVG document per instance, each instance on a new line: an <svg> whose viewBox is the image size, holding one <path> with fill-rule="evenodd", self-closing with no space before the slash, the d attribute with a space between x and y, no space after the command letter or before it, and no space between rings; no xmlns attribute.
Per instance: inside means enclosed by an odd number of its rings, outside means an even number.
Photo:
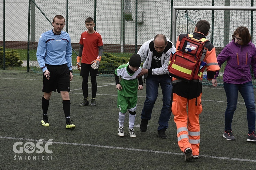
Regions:
<svg viewBox="0 0 256 170"><path fill-rule="evenodd" d="M45 64L50 72L50 79L47 80L43 75L43 92L51 91L70 91L69 68L66 64L53 66Z"/></svg>

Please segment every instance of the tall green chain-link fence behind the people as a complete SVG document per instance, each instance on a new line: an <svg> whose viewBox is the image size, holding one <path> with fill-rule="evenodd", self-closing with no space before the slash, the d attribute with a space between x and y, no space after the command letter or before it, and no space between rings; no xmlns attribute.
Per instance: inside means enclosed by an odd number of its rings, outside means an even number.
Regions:
<svg viewBox="0 0 256 170"><path fill-rule="evenodd" d="M81 33L86 31L85 19L92 17L96 24L95 30L102 35L103 51L107 56L107 62L102 60L99 71L112 74L119 64L127 61L125 58L137 53L140 46L156 34L165 34L172 39L172 6L255 6L255 3L253 0L12 0L0 5L1 11L4 11L5 6L5 29L3 12L0 14L0 46L3 45L2 35L5 31L6 48L26 49L29 33L28 68L41 72L36 60L38 39L43 32L52 29L53 17L62 15L66 19L63 31L70 34L74 49L74 73L78 73L75 70L75 56ZM3 0L0 0L0 4L3 4ZM193 33L198 20L208 20L211 28L207 38L216 47L218 55L239 26L247 27L255 39L255 17L253 11L179 10L176 35ZM110 57L115 56L120 58L120 62L110 60ZM26 62L23 66L26 66Z"/></svg>

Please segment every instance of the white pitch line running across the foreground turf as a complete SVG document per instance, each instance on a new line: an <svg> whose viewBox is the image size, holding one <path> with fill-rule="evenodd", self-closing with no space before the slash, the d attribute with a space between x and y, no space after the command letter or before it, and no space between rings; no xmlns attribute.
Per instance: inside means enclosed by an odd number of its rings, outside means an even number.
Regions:
<svg viewBox="0 0 256 170"><path fill-rule="evenodd" d="M35 139L26 139L26 138L14 138L14 137L6 137L0 136L2 139L13 139L13 140L26 140L26 141L33 141L38 142L39 140ZM47 140L42 140L41 142L49 142ZM184 155L182 153L175 153L175 152L163 152L163 151L154 151L154 150L147 150L147 149L135 149L135 148L124 148L124 147L112 147L112 146L104 146L104 145L92 145L86 143L69 143L69 142L55 142L51 141L53 144L60 144L60 145L73 145L73 146L86 146L86 147L97 147L97 148L108 148L108 149L119 149L119 150L128 150L128 151L140 151L140 152L151 152L151 153L159 153L159 154L169 154L169 155ZM224 159L224 160L236 160L242 162L256 162L253 159L242 159L242 158L231 158L231 157L219 157L219 156L210 156L210 155L199 155L201 157L207 158L215 158L215 159Z"/></svg>

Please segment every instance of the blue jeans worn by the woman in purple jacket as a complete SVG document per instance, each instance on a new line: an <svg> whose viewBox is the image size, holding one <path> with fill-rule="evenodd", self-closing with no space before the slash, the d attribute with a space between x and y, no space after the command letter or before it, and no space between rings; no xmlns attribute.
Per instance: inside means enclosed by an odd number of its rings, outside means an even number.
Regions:
<svg viewBox="0 0 256 170"><path fill-rule="evenodd" d="M255 101L252 81L244 84L230 84L224 82L224 89L227 96L227 108L225 112L225 131L232 130L231 124L234 111L237 108L238 91L244 99L247 110L248 133L255 131Z"/></svg>

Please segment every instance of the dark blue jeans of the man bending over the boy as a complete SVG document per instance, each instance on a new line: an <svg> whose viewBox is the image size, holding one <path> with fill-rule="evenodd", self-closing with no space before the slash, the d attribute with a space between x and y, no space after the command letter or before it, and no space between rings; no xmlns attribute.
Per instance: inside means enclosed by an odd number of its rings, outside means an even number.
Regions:
<svg viewBox="0 0 256 170"><path fill-rule="evenodd" d="M146 100L144 102L144 107L141 113L141 119L151 119L152 110L158 96L159 84L162 89L162 110L158 120L158 131L161 129L168 128L168 121L171 117L171 112L169 111L171 94L172 94L172 84L171 78L168 74L165 75L152 75L148 76L146 79Z"/></svg>

